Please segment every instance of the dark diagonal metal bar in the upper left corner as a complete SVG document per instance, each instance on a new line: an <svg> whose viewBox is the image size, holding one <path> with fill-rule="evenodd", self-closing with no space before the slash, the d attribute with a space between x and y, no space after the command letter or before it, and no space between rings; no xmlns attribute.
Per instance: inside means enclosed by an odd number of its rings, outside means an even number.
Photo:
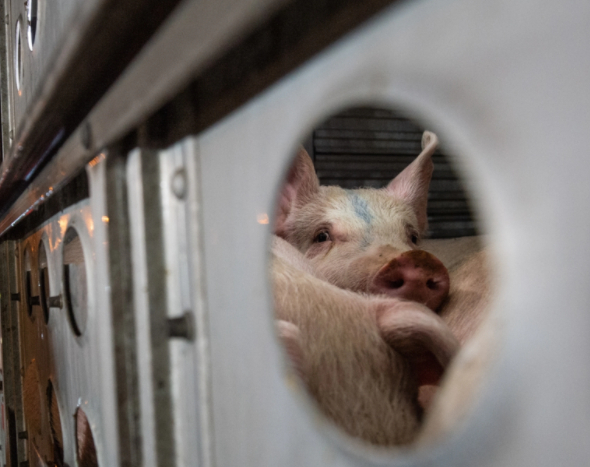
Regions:
<svg viewBox="0 0 590 467"><path fill-rule="evenodd" d="M72 40L44 76L5 154L0 212L23 192L177 3L103 0L89 18L73 23Z"/></svg>

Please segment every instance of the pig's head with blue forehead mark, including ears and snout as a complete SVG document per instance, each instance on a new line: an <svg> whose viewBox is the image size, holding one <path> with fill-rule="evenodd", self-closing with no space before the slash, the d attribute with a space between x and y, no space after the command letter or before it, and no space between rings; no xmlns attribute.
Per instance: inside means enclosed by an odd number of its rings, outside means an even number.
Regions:
<svg viewBox="0 0 590 467"><path fill-rule="evenodd" d="M320 186L300 149L281 191L275 233L338 287L436 310L448 294L448 272L417 245L427 227L437 144L436 135L425 132L422 153L387 187L357 190Z"/></svg>

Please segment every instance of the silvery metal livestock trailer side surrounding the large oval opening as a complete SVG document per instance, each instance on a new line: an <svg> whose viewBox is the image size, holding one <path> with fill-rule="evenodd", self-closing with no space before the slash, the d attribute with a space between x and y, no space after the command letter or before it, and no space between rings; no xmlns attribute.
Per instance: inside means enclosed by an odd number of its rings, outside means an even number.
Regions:
<svg viewBox="0 0 590 467"><path fill-rule="evenodd" d="M588 463L590 4L0 8L0 465ZM277 189L368 107L444 138L495 258L485 384L419 448L320 417L274 333Z"/></svg>

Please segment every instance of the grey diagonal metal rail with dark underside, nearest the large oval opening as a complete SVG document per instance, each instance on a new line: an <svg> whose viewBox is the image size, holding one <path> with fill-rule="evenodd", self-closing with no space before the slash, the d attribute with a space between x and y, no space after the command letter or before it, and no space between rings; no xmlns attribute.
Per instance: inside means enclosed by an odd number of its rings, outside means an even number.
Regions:
<svg viewBox="0 0 590 467"><path fill-rule="evenodd" d="M101 148L134 131L171 99L196 96L189 105L197 108L197 115L184 126L180 118L168 129L173 138L194 133L391 2L184 0L51 164L19 190L18 199L3 198L6 185L0 180L1 206L9 207L0 221L0 236L71 180ZM223 86L215 89L220 73Z"/></svg>

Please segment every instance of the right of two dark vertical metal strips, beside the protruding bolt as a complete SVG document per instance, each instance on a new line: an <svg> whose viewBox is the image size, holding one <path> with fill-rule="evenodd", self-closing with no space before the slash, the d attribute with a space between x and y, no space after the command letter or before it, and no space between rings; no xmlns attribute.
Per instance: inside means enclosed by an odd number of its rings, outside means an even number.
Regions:
<svg viewBox="0 0 590 467"><path fill-rule="evenodd" d="M170 384L166 260L158 152L142 150L141 168L145 213L145 245L147 250L150 337L152 342L157 465L159 467L173 467L176 465L176 453Z"/></svg>

